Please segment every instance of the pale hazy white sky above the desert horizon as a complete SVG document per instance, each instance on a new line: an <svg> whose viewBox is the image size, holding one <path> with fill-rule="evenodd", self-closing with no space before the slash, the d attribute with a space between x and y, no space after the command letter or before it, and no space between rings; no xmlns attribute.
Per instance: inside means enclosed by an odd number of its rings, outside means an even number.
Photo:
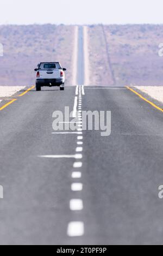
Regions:
<svg viewBox="0 0 163 256"><path fill-rule="evenodd" d="M0 24L163 23L162 0L1 0Z"/></svg>

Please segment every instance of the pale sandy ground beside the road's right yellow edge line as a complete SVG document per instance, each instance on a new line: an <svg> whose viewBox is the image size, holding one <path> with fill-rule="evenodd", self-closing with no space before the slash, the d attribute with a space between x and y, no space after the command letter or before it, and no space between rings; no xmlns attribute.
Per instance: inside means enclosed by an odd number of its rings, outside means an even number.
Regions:
<svg viewBox="0 0 163 256"><path fill-rule="evenodd" d="M163 86L135 86L135 88L163 103Z"/></svg>

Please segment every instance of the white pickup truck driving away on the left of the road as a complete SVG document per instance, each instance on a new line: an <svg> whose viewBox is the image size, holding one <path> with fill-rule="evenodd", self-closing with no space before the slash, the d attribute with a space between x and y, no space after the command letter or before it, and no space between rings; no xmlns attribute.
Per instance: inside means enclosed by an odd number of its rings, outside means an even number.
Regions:
<svg viewBox="0 0 163 256"><path fill-rule="evenodd" d="M59 62L41 62L35 69L36 91L41 91L42 86L60 86L60 90L65 89L65 72Z"/></svg>

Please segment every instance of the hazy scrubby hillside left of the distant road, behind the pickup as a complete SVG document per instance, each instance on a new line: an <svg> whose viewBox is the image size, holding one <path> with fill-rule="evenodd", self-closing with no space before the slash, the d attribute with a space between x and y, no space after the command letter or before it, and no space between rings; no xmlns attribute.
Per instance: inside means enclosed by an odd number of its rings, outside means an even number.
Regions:
<svg viewBox="0 0 163 256"><path fill-rule="evenodd" d="M72 82L73 26L0 26L0 85L35 83L34 68L41 61L60 61L67 68L66 83Z"/></svg>

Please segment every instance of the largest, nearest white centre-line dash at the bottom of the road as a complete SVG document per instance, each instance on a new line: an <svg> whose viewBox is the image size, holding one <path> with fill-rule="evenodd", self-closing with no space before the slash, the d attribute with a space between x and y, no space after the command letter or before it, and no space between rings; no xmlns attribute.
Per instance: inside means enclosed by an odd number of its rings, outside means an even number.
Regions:
<svg viewBox="0 0 163 256"><path fill-rule="evenodd" d="M84 235L83 222L70 222L67 228L67 235L70 237L78 237Z"/></svg>

